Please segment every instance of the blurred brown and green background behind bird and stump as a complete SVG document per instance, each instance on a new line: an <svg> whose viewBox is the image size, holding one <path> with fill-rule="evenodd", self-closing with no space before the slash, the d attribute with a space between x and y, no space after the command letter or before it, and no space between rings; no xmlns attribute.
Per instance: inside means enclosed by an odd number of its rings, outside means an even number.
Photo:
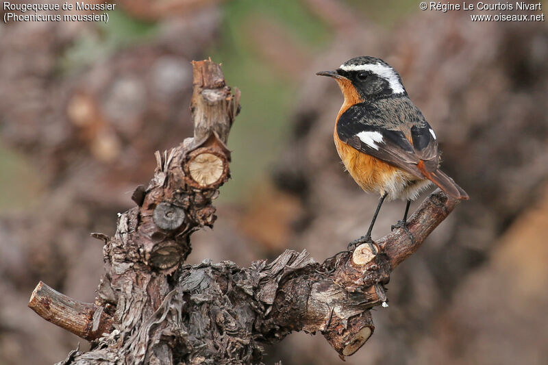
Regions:
<svg viewBox="0 0 548 365"><path fill-rule="evenodd" d="M377 197L343 172L342 98L314 75L356 55L401 73L471 200L396 270L390 307L347 364L547 364L546 22L474 23L403 0L116 4L107 24L0 26L1 365L87 346L29 310L29 295L42 280L93 300L103 265L89 233L112 234L153 152L190 135L190 60L211 56L242 90L233 179L190 262L249 266L286 247L323 260L361 236ZM373 236L403 207L384 205ZM266 351L266 364L340 363L304 333Z"/></svg>

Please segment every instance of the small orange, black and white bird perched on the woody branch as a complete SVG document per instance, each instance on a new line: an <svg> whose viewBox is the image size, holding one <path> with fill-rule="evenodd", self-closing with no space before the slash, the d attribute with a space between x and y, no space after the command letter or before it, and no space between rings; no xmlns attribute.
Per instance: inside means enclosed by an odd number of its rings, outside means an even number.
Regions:
<svg viewBox="0 0 548 365"><path fill-rule="evenodd" d="M392 229L401 227L408 234L410 203L430 184L454 199L469 199L440 170L436 133L393 66L380 58L360 56L316 75L334 78L343 92L333 134L340 159L362 190L380 194L367 233L350 242L348 249L368 242L375 253L371 231L385 199L407 201L403 219Z"/></svg>

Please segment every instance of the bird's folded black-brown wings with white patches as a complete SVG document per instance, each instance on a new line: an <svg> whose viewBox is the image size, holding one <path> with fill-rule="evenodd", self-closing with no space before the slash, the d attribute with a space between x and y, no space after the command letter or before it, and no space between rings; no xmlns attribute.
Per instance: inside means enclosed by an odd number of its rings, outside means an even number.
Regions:
<svg viewBox="0 0 548 365"><path fill-rule="evenodd" d="M340 116L337 123L337 134L340 140L351 147L372 155L379 160L402 168L417 177L425 175L417 164L423 161L428 171L438 168L438 143L431 127L423 118L420 123L414 121L384 121L382 118L393 118L384 113L375 113L364 105L353 105ZM420 113L420 112L419 112ZM405 113L395 113L403 115ZM421 117L422 115L419 114ZM386 127L385 127L386 126ZM408 136L397 126L406 126ZM412 141L412 142L410 142Z"/></svg>

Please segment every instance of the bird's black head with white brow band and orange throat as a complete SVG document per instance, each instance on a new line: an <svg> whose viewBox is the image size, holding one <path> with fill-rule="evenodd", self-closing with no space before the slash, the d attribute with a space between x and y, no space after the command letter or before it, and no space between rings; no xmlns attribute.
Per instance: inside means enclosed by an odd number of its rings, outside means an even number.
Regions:
<svg viewBox="0 0 548 365"><path fill-rule="evenodd" d="M407 95L399 74L380 58L352 58L335 71L323 71L316 75L334 77L345 99L350 97L353 90L356 90L360 99L364 101L392 95Z"/></svg>

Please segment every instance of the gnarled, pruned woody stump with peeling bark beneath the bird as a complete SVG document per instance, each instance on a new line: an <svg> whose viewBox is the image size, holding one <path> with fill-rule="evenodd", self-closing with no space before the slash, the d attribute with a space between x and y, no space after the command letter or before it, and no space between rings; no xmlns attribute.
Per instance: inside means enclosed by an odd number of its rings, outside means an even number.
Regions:
<svg viewBox="0 0 548 365"><path fill-rule="evenodd" d="M92 335L71 330L93 340L92 348L73 351L61 364L257 363L262 344L291 331L319 331L340 356L352 355L375 329L371 308L387 306L390 271L420 247L456 201L436 190L410 217L408 230L375 243L376 255L362 244L321 264L306 251L290 250L249 268L210 260L184 264L190 234L214 223L212 200L229 178L225 144L240 97L225 85L219 65L206 60L193 67L195 136L156 153L154 177L134 192L137 206L119 214L114 236L94 234L105 242L95 303L64 299L67 313L79 314L75 323L70 316L61 320L57 307L33 305L66 329L95 329ZM56 303L62 295L39 286L39 303ZM100 338L98 329L105 331Z"/></svg>

